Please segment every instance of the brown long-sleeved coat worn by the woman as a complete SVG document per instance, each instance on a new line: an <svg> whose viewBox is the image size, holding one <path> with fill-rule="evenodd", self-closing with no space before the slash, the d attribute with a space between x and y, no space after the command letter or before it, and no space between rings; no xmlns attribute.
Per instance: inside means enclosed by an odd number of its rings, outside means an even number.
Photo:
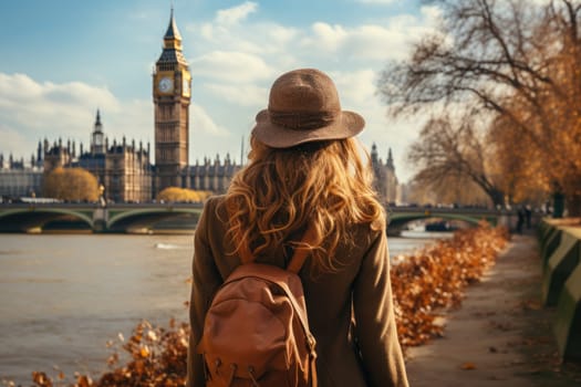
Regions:
<svg viewBox="0 0 581 387"><path fill-rule="evenodd" d="M208 200L199 220L194 242L194 281L191 286L191 335L188 355L188 386L204 386L201 356L196 354L204 317L216 290L240 264L226 239L227 213L216 212L224 197ZM222 207L220 207L221 209ZM404 359L397 341L390 259L385 232L366 226L352 228L356 245L341 245L338 272L311 279L309 260L300 272L309 325L317 339L319 386L408 386ZM283 266L283 252L270 262ZM349 339L351 311L356 321L360 356Z"/></svg>

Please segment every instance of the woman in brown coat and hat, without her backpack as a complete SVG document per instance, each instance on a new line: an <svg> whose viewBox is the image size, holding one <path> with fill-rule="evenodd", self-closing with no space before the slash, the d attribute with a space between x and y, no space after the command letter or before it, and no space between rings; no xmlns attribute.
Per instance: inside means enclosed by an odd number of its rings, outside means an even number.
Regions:
<svg viewBox="0 0 581 387"><path fill-rule="evenodd" d="M187 386L205 386L205 367L219 366L205 364L196 348L214 295L245 263L240 257L284 268L308 229L315 238L303 247L309 258L299 276L319 386L408 386L385 213L354 138L363 117L341 109L326 74L303 69L272 84L256 122L249 164L226 195L206 202L196 229Z"/></svg>

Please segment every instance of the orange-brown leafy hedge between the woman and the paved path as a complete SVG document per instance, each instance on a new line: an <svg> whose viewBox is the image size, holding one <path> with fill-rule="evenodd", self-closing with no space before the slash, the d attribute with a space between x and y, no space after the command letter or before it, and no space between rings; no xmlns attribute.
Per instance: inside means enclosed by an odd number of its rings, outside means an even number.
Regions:
<svg viewBox="0 0 581 387"><path fill-rule="evenodd" d="M466 286L494 265L507 241L506 228L483 222L393 265L395 318L404 348L443 335L438 311L461 304Z"/></svg>

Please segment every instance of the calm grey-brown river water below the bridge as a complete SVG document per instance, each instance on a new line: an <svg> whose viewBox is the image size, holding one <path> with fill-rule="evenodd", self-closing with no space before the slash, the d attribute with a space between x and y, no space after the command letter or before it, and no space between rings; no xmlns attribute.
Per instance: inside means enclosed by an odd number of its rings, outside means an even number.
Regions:
<svg viewBox="0 0 581 387"><path fill-rule="evenodd" d="M390 238L391 255L442 234ZM31 372L97 378L106 342L143 318L187 321L191 234L0 234L0 385Z"/></svg>

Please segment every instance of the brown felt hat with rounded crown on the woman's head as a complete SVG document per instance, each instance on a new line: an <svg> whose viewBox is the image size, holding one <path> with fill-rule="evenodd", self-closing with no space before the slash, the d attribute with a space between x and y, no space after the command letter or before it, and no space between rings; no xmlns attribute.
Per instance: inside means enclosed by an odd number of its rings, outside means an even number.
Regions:
<svg viewBox="0 0 581 387"><path fill-rule="evenodd" d="M272 148L355 136L365 121L342 111L333 81L315 69L282 74L270 88L268 108L256 117L253 134Z"/></svg>

